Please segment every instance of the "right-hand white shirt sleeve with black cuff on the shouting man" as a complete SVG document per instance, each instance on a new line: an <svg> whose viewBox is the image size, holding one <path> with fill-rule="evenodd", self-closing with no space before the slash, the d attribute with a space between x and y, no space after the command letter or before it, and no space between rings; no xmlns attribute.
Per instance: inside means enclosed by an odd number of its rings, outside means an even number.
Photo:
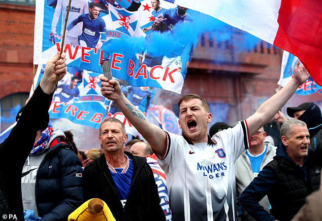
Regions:
<svg viewBox="0 0 322 221"><path fill-rule="evenodd" d="M250 147L250 136L246 120L240 121L235 127L227 130L219 131L214 135L219 136L222 140L223 146L229 151L230 156L234 162L243 153L245 149Z"/></svg>

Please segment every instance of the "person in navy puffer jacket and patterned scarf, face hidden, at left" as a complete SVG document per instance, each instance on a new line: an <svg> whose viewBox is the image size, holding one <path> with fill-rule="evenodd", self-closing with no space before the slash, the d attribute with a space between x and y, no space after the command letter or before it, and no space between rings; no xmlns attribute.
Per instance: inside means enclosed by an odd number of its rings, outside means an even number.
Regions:
<svg viewBox="0 0 322 221"><path fill-rule="evenodd" d="M22 170L23 208L42 220L67 220L83 202L81 162L65 134L48 125L48 113L43 122Z"/></svg>

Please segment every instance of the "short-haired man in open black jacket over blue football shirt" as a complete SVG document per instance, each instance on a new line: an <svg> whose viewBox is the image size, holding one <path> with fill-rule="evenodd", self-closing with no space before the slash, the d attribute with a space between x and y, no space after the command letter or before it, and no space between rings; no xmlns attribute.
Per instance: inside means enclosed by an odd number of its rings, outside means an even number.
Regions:
<svg viewBox="0 0 322 221"><path fill-rule="evenodd" d="M85 167L84 198L104 200L116 220L166 220L146 159L124 152L124 125L108 118L100 126L104 154Z"/></svg>

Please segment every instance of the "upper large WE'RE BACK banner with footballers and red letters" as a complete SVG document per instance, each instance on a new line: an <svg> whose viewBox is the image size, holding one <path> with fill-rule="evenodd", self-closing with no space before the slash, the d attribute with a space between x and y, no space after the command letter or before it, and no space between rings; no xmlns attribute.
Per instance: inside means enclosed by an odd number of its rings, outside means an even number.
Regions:
<svg viewBox="0 0 322 221"><path fill-rule="evenodd" d="M36 1L34 64L60 51L68 2ZM72 0L63 51L68 66L102 73L109 58L113 77L180 93L200 15L165 1Z"/></svg>

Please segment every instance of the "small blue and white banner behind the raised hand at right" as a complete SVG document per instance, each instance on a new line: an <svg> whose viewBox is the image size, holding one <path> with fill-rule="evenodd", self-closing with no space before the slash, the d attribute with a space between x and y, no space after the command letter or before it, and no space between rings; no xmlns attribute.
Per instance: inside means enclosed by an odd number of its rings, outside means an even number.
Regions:
<svg viewBox="0 0 322 221"><path fill-rule="evenodd" d="M283 52L282 65L281 65L281 75L278 81L278 85L284 87L287 82L291 81L294 77L294 67L296 62L299 59L295 57L293 54L290 54L287 51ZM322 93L322 86L317 85L312 78L310 77L304 84L302 84L297 91L296 94L299 95L310 95L315 92Z"/></svg>

